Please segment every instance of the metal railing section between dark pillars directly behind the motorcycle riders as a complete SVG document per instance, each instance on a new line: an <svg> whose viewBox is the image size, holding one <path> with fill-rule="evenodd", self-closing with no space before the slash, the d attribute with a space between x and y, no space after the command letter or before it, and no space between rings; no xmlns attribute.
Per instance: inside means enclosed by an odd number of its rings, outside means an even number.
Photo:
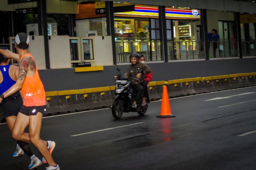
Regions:
<svg viewBox="0 0 256 170"><path fill-rule="evenodd" d="M116 62L129 63L129 56L143 54L146 61L162 61L161 41L116 41Z"/></svg>

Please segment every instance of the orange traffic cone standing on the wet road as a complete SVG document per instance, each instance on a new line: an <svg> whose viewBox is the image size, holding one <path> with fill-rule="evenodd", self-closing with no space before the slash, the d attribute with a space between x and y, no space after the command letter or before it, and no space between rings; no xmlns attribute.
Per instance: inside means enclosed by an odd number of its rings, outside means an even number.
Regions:
<svg viewBox="0 0 256 170"><path fill-rule="evenodd" d="M160 112L160 115L156 117L175 117L172 115L172 112L171 112L171 107L170 107L168 93L167 93L167 87L166 85L164 85L163 87L164 87L164 90L163 90L161 112Z"/></svg>

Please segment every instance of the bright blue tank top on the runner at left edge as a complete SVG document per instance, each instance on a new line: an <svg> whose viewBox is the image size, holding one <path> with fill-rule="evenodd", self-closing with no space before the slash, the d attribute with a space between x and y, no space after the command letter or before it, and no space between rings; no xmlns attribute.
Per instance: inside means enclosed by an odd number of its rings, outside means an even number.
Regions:
<svg viewBox="0 0 256 170"><path fill-rule="evenodd" d="M0 94L8 90L12 85L14 85L16 82L12 80L12 78L9 75L9 68L10 64L8 65L0 65L0 71L3 75L3 82L0 83Z"/></svg>

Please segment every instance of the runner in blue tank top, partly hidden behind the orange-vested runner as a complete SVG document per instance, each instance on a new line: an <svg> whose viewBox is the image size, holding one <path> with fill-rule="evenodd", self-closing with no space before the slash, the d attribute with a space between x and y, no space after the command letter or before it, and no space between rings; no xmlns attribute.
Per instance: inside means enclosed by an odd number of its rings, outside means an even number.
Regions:
<svg viewBox="0 0 256 170"><path fill-rule="evenodd" d="M10 59L0 54L0 94L4 93L14 85L18 77L19 68L17 66L10 65L9 62ZM4 113L4 118L6 119L11 132L22 104L23 100L20 96L20 92L16 92L5 98L0 104ZM12 156L22 156L24 152L31 158L31 164L28 166L29 169L36 168L42 164L42 162L32 153L28 143L17 141L16 151ZM35 163L34 160L37 160L38 163Z"/></svg>

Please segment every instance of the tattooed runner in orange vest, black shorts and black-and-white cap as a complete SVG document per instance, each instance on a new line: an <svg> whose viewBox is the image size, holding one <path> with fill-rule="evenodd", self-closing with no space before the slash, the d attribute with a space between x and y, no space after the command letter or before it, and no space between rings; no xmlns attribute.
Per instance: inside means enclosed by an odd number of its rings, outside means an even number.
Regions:
<svg viewBox="0 0 256 170"><path fill-rule="evenodd" d="M43 113L46 111L45 91L36 62L33 56L28 53L29 45L28 35L18 33L15 37L15 48L19 55L0 49L0 53L7 58L20 61L18 79L11 88L0 94L0 102L21 89L23 105L14 123L12 137L35 145L49 164L46 170L60 170L59 165L54 162L51 155L55 143L47 143L47 148L44 141L40 139ZM27 126L29 126L29 136L24 133Z"/></svg>

